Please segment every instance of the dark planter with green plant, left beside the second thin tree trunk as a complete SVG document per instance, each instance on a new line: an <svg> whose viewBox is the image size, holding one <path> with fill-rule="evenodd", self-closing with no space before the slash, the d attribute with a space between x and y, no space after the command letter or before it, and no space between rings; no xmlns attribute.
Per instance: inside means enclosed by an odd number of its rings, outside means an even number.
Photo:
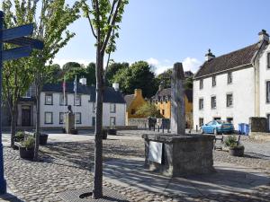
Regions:
<svg viewBox="0 0 270 202"><path fill-rule="evenodd" d="M20 146L20 156L23 159L32 159L34 156L35 139L33 136L28 136Z"/></svg>

